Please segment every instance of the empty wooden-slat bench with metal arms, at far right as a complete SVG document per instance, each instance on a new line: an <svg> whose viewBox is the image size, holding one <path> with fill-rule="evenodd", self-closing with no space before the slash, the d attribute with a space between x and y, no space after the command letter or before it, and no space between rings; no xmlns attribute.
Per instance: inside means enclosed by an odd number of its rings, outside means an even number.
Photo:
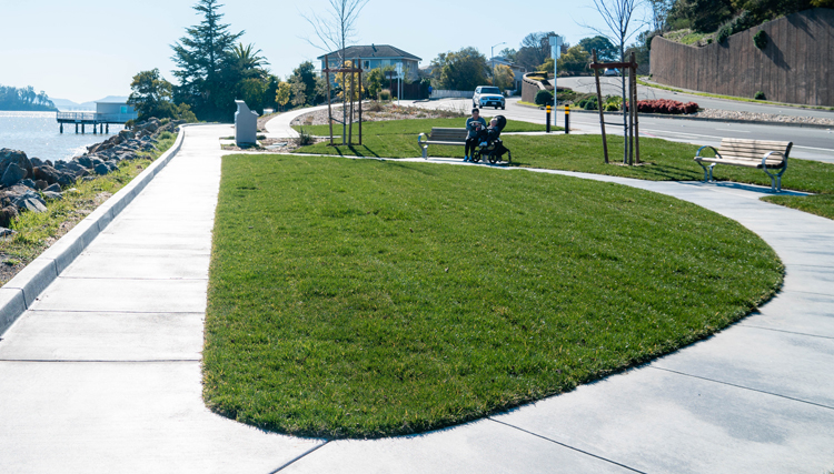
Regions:
<svg viewBox="0 0 834 474"><path fill-rule="evenodd" d="M713 182L713 168L716 164L759 168L771 178L771 190L782 191L782 174L787 170L787 154L793 142L768 140L723 139L718 150L706 145L698 149L695 161L704 169L704 182ZM715 157L702 157L701 151L712 149ZM711 163L707 167L704 163ZM777 171L772 173L771 170Z"/></svg>

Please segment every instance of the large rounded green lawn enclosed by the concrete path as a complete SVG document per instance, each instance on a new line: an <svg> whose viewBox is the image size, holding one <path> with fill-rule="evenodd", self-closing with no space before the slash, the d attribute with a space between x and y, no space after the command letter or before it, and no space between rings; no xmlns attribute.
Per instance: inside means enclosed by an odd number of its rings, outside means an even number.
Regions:
<svg viewBox="0 0 834 474"><path fill-rule="evenodd" d="M672 198L396 161L226 157L214 239L206 403L327 438L569 391L737 321L783 275Z"/></svg>

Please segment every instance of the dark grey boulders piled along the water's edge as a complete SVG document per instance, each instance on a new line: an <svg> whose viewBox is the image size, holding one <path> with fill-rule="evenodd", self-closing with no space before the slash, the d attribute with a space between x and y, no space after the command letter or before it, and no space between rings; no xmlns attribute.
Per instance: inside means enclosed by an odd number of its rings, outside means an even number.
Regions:
<svg viewBox="0 0 834 474"><path fill-rule="evenodd" d="M109 174L122 161L143 158L141 152L156 150L159 134L176 133L181 123L150 119L69 161L30 159L23 151L0 149L0 236L13 233L7 228L21 212L46 212L47 202L63 199L77 181Z"/></svg>

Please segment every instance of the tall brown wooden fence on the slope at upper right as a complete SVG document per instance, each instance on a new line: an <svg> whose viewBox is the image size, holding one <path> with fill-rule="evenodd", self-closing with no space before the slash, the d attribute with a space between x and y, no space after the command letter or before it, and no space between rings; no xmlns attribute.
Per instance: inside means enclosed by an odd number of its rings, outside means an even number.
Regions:
<svg viewBox="0 0 834 474"><path fill-rule="evenodd" d="M753 36L763 30L759 50ZM834 105L834 10L794 13L695 48L652 40L653 80L717 94L808 105Z"/></svg>

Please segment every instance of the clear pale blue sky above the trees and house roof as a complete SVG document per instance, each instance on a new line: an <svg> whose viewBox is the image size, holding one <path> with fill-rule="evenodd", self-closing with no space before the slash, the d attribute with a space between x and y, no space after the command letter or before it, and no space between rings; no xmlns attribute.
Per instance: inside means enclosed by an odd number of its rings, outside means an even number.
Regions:
<svg viewBox="0 0 834 474"><path fill-rule="evenodd" d="M325 16L328 0L220 1L222 21L240 41L260 49L274 74L286 79L324 54L304 16ZM171 44L198 24L197 0L0 0L0 84L32 85L50 98L87 102L129 95L132 77L159 68L171 73ZM576 44L604 29L593 0L477 2L369 0L356 22L355 44L390 44L423 59L474 47L487 58L520 47L525 36L555 31ZM635 23L637 24L637 23ZM499 44L506 43L506 44ZM497 44L497 46L496 46Z"/></svg>

